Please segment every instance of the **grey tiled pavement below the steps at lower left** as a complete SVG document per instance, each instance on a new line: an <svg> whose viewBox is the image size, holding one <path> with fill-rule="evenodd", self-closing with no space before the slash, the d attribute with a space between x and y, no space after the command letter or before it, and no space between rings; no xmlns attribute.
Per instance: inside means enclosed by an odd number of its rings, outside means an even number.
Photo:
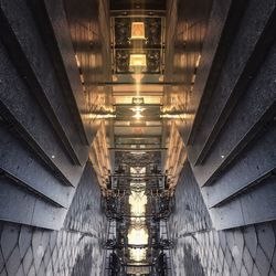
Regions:
<svg viewBox="0 0 276 276"><path fill-rule="evenodd" d="M88 163L61 231L0 222L1 276L100 275L106 222L95 179Z"/></svg>

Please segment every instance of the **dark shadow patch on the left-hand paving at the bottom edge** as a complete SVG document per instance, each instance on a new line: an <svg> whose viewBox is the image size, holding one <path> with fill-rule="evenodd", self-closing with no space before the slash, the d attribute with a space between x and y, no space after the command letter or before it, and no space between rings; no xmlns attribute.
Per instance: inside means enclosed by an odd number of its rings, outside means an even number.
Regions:
<svg viewBox="0 0 276 276"><path fill-rule="evenodd" d="M86 244L83 254L78 254L71 276L88 276L92 272L93 245ZM87 274L88 273L88 274Z"/></svg>

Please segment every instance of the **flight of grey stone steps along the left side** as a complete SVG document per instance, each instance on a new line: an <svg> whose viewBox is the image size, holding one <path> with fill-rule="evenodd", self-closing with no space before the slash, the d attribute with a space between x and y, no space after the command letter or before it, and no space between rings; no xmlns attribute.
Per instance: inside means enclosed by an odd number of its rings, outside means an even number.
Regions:
<svg viewBox="0 0 276 276"><path fill-rule="evenodd" d="M96 130L63 1L1 1L0 61L0 220L59 230Z"/></svg>

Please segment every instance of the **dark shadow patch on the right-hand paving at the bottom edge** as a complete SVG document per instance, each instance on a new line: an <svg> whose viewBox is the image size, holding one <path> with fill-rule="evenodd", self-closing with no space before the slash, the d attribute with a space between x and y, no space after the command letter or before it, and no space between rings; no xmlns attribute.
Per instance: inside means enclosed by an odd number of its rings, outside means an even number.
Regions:
<svg viewBox="0 0 276 276"><path fill-rule="evenodd" d="M184 253L184 275L187 276L205 276L203 266L201 265L200 257L193 254L190 244L183 247Z"/></svg>

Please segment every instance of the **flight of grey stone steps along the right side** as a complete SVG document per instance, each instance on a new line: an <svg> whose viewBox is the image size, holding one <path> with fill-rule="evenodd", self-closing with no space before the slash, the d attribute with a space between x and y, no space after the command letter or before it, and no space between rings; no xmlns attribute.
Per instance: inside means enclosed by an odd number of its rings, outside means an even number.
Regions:
<svg viewBox="0 0 276 276"><path fill-rule="evenodd" d="M275 8L213 1L189 118L179 124L216 229L276 219Z"/></svg>

